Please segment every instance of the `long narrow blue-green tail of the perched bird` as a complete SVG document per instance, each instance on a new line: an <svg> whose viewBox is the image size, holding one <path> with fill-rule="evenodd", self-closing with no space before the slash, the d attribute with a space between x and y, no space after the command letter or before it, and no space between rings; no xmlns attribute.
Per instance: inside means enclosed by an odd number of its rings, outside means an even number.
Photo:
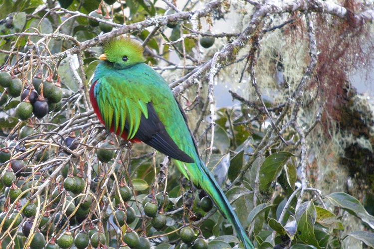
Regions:
<svg viewBox="0 0 374 249"><path fill-rule="evenodd" d="M253 244L248 239L245 230L240 224L239 219L232 210L230 203L228 202L225 194L222 192L221 188L218 186L218 183L215 181L212 174L206 168L205 164L200 160L196 160L195 163L183 163L177 161L177 166L181 167L186 166L185 170L187 171L187 177L192 181L192 183L203 189L213 201L217 209L222 213L222 215L229 220L229 222L234 226L236 235L242 241L245 249L254 249ZM189 167L190 166L190 167Z"/></svg>

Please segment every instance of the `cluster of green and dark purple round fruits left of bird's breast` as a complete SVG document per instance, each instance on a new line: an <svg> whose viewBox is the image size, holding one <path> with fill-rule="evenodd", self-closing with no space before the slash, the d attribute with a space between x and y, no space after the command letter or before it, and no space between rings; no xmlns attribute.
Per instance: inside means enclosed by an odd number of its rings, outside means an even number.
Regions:
<svg viewBox="0 0 374 249"><path fill-rule="evenodd" d="M20 102L15 108L15 117L23 121L31 118L32 114L38 119L43 118L62 99L59 81L54 84L52 79L48 77L42 82L40 74L33 78L32 84L27 85L20 79L12 77L8 72L1 71L0 86L6 88L8 96L13 98L20 96ZM2 98L6 101L6 97ZM2 105L4 101L0 100L0 103Z"/></svg>

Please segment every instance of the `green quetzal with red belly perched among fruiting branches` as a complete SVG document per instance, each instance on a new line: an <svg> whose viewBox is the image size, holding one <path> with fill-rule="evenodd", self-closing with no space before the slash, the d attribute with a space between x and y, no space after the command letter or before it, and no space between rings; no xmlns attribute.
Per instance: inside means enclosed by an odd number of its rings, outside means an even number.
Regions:
<svg viewBox="0 0 374 249"><path fill-rule="evenodd" d="M98 119L110 131L143 141L173 158L182 174L203 189L234 226L245 249L253 249L226 196L202 162L186 115L168 83L143 57L143 47L125 37L103 44L90 100Z"/></svg>

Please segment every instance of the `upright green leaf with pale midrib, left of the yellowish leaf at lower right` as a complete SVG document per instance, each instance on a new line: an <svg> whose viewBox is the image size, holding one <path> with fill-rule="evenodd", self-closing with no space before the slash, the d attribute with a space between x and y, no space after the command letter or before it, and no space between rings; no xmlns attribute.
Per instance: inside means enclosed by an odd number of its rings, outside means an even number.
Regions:
<svg viewBox="0 0 374 249"><path fill-rule="evenodd" d="M313 202L305 202L296 210L298 238L306 243L319 248L314 235L314 224L316 223L316 208Z"/></svg>

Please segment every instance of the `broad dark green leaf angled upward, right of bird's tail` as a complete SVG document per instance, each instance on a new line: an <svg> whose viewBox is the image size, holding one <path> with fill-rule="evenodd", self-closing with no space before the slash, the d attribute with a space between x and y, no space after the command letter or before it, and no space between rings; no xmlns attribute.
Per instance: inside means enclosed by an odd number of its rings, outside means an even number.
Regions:
<svg viewBox="0 0 374 249"><path fill-rule="evenodd" d="M280 151L266 157L260 168L260 190L266 191L270 183L275 180L283 165L292 154L287 151Z"/></svg>

